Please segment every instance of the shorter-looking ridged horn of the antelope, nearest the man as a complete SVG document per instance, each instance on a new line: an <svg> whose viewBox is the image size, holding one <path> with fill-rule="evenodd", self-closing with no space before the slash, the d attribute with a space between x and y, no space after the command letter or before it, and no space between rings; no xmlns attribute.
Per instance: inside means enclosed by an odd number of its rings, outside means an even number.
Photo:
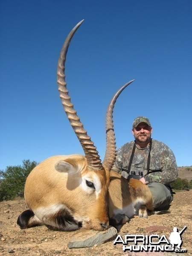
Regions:
<svg viewBox="0 0 192 256"><path fill-rule="evenodd" d="M103 160L103 167L111 170L115 159L116 159L116 142L115 142L115 134L113 129L113 108L116 102L116 99L119 97L119 94L134 80L129 81L124 84L113 96L111 102L108 105L107 114L106 114L106 151L105 157Z"/></svg>

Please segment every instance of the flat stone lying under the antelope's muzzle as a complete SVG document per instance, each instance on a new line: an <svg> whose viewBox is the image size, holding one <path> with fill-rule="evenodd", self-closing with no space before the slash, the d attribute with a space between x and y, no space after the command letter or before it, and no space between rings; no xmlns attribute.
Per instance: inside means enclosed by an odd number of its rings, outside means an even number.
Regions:
<svg viewBox="0 0 192 256"><path fill-rule="evenodd" d="M114 227L108 228L104 231L86 230L81 228L77 233L70 239L68 243L69 248L82 248L91 247L95 244L103 244L107 240L111 239L117 234L117 230Z"/></svg>

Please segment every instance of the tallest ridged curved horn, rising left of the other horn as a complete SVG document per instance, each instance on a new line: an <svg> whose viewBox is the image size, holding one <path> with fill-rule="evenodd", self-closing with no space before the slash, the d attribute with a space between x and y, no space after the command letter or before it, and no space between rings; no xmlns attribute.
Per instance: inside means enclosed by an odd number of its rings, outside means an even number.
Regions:
<svg viewBox="0 0 192 256"><path fill-rule="evenodd" d="M70 121L71 126L73 127L73 130L76 133L76 136L79 139L79 142L81 143L81 146L84 150L85 157L87 159L87 167L89 169L93 170L101 170L102 169L102 163L98 154L98 151L96 151L96 146L94 146L94 143L90 140L90 137L87 135L87 131L84 129L83 124L80 122L79 116L77 116L77 112L73 108L73 104L71 103L71 98L68 95L68 90L66 88L66 82L65 82L65 60L67 55L67 50L70 45L70 41L73 38L73 35L75 34L76 30L79 28L81 23L84 20L81 20L69 33L67 36L63 47L61 49L61 53L58 60L58 67L57 67L57 83L58 83L58 90L59 95L61 98L62 105L64 106L65 113L67 114L67 118Z"/></svg>

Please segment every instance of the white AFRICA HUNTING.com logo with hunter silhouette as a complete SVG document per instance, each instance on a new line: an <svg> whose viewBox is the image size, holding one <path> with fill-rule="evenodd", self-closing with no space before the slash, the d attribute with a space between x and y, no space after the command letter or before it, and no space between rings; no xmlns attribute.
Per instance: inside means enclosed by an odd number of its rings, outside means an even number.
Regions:
<svg viewBox="0 0 192 256"><path fill-rule="evenodd" d="M130 252L176 252L186 253L186 249L181 249L183 243L181 234L186 230L186 226L179 232L177 227L173 228L173 232L169 236L169 240L165 235L125 235L125 239L118 235L113 242L116 244L123 244L123 251Z"/></svg>

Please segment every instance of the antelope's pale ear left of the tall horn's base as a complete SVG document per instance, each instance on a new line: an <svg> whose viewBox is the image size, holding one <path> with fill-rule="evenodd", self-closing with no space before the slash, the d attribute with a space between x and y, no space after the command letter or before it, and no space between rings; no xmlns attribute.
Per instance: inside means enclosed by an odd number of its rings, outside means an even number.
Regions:
<svg viewBox="0 0 192 256"><path fill-rule="evenodd" d="M70 161L72 162L72 161ZM78 172L81 171L81 168L78 168L76 166L76 163L74 165L72 163L69 163L67 161L61 160L55 163L55 170L58 172L66 172L69 175L74 175L77 174Z"/></svg>

